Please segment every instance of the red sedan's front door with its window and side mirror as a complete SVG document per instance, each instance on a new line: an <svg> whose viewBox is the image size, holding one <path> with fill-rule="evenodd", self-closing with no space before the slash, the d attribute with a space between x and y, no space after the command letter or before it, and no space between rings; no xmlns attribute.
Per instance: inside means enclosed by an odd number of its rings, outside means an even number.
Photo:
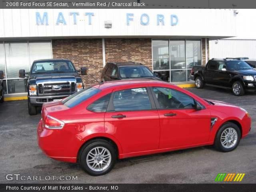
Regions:
<svg viewBox="0 0 256 192"><path fill-rule="evenodd" d="M210 111L194 109L194 99L178 90L151 89L160 117L160 149L208 142Z"/></svg>

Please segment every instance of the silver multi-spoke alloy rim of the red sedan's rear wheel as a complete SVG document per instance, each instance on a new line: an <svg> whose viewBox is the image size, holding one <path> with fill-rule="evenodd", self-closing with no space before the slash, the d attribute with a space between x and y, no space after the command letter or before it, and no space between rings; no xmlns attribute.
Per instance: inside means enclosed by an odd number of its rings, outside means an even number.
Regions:
<svg viewBox="0 0 256 192"><path fill-rule="evenodd" d="M93 171L103 171L110 165L111 154L105 147L94 147L86 156L86 163Z"/></svg>

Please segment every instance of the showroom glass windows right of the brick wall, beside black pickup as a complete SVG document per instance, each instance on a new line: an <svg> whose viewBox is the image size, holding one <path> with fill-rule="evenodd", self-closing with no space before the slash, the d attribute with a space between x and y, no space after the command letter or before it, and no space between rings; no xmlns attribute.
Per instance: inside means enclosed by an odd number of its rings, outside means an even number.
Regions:
<svg viewBox="0 0 256 192"><path fill-rule="evenodd" d="M201 40L152 40L153 72L166 82L189 81L193 66L202 65Z"/></svg>

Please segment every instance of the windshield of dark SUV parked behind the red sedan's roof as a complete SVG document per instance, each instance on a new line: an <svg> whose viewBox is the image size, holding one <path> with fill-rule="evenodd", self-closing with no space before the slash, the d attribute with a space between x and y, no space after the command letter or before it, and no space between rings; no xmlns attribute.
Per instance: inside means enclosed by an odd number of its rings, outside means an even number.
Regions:
<svg viewBox="0 0 256 192"><path fill-rule="evenodd" d="M120 67L121 78L153 77L154 74L145 66Z"/></svg>

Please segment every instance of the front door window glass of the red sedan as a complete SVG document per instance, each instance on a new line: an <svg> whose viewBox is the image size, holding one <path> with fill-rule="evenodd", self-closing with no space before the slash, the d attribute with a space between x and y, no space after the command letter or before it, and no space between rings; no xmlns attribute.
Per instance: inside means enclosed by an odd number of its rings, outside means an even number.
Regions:
<svg viewBox="0 0 256 192"><path fill-rule="evenodd" d="M160 109L194 109L194 99L187 94L162 87L154 87L153 91Z"/></svg>

